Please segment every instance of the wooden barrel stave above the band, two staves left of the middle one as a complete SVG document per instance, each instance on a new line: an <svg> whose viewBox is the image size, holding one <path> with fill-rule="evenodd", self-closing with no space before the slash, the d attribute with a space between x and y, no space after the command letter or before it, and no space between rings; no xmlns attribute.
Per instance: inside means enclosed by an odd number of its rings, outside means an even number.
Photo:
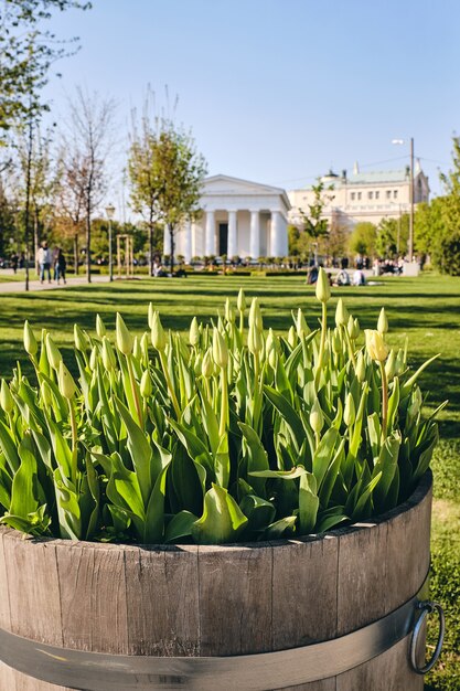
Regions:
<svg viewBox="0 0 460 691"><path fill-rule="evenodd" d="M124 549L61 541L57 564L63 646L127 653Z"/></svg>

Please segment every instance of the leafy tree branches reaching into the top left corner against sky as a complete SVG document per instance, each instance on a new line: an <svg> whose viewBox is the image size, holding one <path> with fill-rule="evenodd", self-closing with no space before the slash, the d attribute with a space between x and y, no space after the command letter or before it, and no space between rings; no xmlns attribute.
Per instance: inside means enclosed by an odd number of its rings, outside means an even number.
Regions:
<svg viewBox="0 0 460 691"><path fill-rule="evenodd" d="M0 134L13 123L36 118L47 105L41 91L51 65L68 54L54 34L44 30L52 10L88 9L79 0L1 0L0 12ZM75 45L75 39L72 41Z"/></svg>

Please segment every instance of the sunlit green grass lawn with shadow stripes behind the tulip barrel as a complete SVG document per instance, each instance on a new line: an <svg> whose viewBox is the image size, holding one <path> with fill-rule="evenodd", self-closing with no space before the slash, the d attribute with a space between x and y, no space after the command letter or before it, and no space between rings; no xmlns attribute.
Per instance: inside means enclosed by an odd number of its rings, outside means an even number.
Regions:
<svg viewBox="0 0 460 691"><path fill-rule="evenodd" d="M0 275L1 279L1 275ZM443 603L448 634L442 663L428 682L431 690L460 689L460 278L427 275L420 278L388 277L377 286L335 288L331 301L331 326L336 299L343 297L362 328L375 328L381 307L389 320L388 342L403 347L409 339L409 361L416 368L441 353L424 373L421 385L429 390L434 407L449 400L440 416L440 444L434 461L436 477L434 510L432 598ZM108 328L120 311L137 333L147 329L148 302L160 310L167 328L186 332L193 315L210 319L223 310L228 296L236 301L239 287L247 297L259 296L265 327L286 329L292 323L291 309L304 310L315 327L320 307L314 289L303 277L196 276L186 279L139 279L114 284L67 287L30 294L0 294L0 376L8 378L17 359L29 372L22 348L22 327L29 319L39 331L53 331L68 361L75 321L94 331L98 312ZM71 364L71 363L68 363ZM75 368L73 368L75 370Z"/></svg>

